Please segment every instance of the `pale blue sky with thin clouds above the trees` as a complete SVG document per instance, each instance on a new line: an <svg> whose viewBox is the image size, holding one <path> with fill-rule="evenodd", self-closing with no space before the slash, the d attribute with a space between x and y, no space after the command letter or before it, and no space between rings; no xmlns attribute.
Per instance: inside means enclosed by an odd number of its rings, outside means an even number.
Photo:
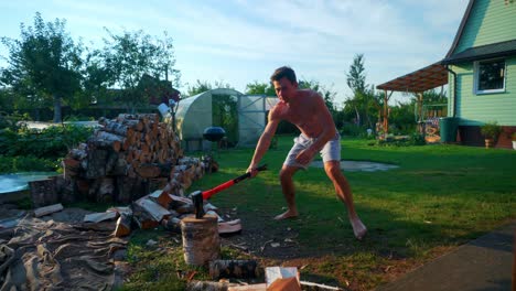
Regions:
<svg viewBox="0 0 516 291"><path fill-rule="evenodd" d="M0 0L0 36L20 39L20 23L66 20L74 40L101 47L104 28L173 39L181 91L196 80L266 83L280 66L352 96L346 74L364 54L366 83L379 85L444 57L467 0ZM0 44L0 56L8 56ZM0 66L6 66L0 60ZM402 100L401 95L394 99Z"/></svg>

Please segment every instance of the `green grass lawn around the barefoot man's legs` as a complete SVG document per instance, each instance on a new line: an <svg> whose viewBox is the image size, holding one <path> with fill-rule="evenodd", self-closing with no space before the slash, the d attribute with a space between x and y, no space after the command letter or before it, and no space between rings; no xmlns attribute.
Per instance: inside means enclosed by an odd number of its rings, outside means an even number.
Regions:
<svg viewBox="0 0 516 291"><path fill-rule="evenodd" d="M294 177L299 218L270 219L284 206L278 172L292 144L292 137L280 137L278 148L264 158L270 171L215 195L212 203L237 209L244 231L267 237L291 229L298 244L288 251L294 256L246 255L228 248L223 255L251 257L265 267L302 265L304 280L368 290L516 218L516 151L461 146L373 147L370 142L343 138L342 158L394 163L399 169L345 172L357 212L369 229L363 242L354 238L345 208L322 169L311 168ZM251 155L252 149L219 151L215 157L219 172L206 175L189 191L207 190L239 175ZM164 249L169 255L155 257L143 247L149 235L138 231L131 240L129 254L147 260L133 261L139 276L131 277L127 290L166 290L171 284L165 282L175 281L171 277L176 278L176 269L189 269L182 262L180 244L174 244L170 234L152 233L168 244ZM146 279L141 274L149 268L158 271ZM205 278L205 270L197 271L195 278ZM174 283L179 289L182 282Z"/></svg>

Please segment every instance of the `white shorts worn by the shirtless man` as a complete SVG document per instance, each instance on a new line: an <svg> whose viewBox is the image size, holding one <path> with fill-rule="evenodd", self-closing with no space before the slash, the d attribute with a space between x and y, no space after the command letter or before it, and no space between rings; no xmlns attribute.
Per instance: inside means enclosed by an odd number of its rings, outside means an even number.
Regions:
<svg viewBox="0 0 516 291"><path fill-rule="evenodd" d="M299 166L302 169L307 169L308 165L312 162L308 162L308 164L300 164L295 161L295 157L304 150L308 149L312 143L314 143L318 139L311 139L304 136L303 133L299 134L299 137L294 138L294 144L292 149L290 149L289 154L287 154L287 159L284 159L283 164L289 166ZM341 134L338 132L335 137L329 140L324 147L319 152L323 162L327 161L341 161Z"/></svg>

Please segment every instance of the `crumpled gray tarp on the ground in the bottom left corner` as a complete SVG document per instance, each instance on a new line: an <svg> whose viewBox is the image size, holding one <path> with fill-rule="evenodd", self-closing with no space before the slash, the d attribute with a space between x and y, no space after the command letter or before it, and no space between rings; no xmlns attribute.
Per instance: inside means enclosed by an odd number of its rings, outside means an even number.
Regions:
<svg viewBox="0 0 516 291"><path fill-rule="evenodd" d="M127 245L112 236L114 226L92 230L25 216L0 231L0 291L110 290L112 255Z"/></svg>

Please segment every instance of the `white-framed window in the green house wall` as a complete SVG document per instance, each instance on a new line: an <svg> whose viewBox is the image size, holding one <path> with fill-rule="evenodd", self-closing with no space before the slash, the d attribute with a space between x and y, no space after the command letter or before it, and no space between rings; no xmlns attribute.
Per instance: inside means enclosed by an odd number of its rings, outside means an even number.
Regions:
<svg viewBox="0 0 516 291"><path fill-rule="evenodd" d="M475 63L475 93L505 91L505 60Z"/></svg>

